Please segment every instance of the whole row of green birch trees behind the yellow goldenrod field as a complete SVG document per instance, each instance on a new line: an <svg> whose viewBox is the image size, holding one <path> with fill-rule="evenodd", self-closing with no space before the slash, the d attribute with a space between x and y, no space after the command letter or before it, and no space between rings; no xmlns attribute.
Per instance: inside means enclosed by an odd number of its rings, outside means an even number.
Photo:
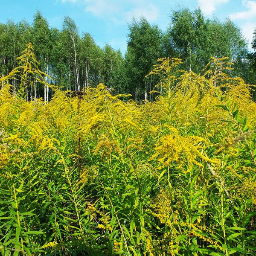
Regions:
<svg viewBox="0 0 256 256"><path fill-rule="evenodd" d="M230 76L241 76L249 84L256 81L256 53L248 52L241 30L229 19L209 20L200 9L180 9L172 12L165 32L145 18L132 20L128 28L128 47L123 57L120 50L108 44L103 48L97 46L90 34L81 35L70 17L64 17L61 30L50 28L39 11L32 25L26 20L17 24L0 23L1 76L18 66L17 56L31 42L39 68L47 74L46 82L64 90L80 91L103 83L114 94L131 93L136 101L152 100L149 91L157 81L145 76L161 57L179 57L183 60L183 70L200 72L210 56L227 56L234 63ZM48 101L52 96L51 86L34 81L28 88L28 100L43 97ZM20 83L19 77L14 76L15 90L19 90Z"/></svg>

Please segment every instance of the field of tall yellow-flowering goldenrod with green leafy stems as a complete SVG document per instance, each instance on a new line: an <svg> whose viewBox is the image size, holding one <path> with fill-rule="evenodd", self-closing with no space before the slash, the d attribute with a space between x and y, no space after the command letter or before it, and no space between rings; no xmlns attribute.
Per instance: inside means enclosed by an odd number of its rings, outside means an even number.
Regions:
<svg viewBox="0 0 256 256"><path fill-rule="evenodd" d="M159 59L141 104L38 65L27 44L0 79L3 256L255 255L256 104L227 58ZM37 85L51 101L27 101Z"/></svg>

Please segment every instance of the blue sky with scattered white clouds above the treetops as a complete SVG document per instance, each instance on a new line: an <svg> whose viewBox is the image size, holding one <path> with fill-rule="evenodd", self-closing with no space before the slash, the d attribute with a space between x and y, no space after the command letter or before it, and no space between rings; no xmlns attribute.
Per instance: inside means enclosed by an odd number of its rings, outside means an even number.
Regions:
<svg viewBox="0 0 256 256"><path fill-rule="evenodd" d="M133 17L147 18L164 31L170 22L172 10L180 7L194 9L201 6L206 17L224 20L230 17L250 42L256 28L256 0L0 0L0 22L8 19L19 22L26 19L30 24L38 9L51 27L61 29L63 16L75 20L80 34L89 32L96 44L106 43L124 53L128 28Z"/></svg>

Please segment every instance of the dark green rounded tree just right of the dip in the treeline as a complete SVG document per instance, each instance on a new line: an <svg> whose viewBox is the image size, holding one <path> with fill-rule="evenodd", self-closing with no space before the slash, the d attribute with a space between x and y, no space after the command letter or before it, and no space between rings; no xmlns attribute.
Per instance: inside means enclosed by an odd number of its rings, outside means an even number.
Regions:
<svg viewBox="0 0 256 256"><path fill-rule="evenodd" d="M151 26L144 17L140 21L134 19L128 28L130 33L125 58L129 70L130 92L136 95L137 101L142 98L148 99L152 79L145 79L145 76L163 55L162 32L158 26Z"/></svg>

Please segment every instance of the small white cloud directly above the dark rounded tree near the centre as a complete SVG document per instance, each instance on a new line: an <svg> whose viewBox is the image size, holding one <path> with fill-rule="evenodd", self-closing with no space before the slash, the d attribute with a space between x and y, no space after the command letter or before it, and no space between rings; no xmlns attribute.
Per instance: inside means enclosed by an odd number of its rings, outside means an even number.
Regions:
<svg viewBox="0 0 256 256"><path fill-rule="evenodd" d="M126 13L127 20L131 20L133 17L136 19L139 19L142 16L145 17L148 21L157 20L159 16L159 11L157 6L154 6L153 4L149 4L147 7L145 6L137 7Z"/></svg>

